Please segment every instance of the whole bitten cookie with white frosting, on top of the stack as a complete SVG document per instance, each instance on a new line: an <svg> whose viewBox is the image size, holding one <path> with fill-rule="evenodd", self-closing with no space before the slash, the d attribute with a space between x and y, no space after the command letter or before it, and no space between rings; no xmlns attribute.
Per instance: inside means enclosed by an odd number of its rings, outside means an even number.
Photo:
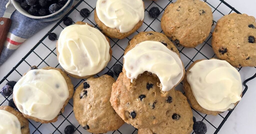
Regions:
<svg viewBox="0 0 256 134"><path fill-rule="evenodd" d="M124 51L123 82L128 90L135 88L139 76L146 72L154 77L163 96L183 79L185 69L179 51L162 33L140 32L128 43ZM172 68L172 70L170 70Z"/></svg>

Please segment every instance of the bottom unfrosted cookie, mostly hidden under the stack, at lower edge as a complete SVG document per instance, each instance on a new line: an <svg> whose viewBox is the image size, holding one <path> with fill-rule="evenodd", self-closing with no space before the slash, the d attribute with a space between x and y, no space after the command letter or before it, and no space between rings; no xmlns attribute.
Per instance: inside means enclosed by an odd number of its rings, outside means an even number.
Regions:
<svg viewBox="0 0 256 134"><path fill-rule="evenodd" d="M176 101L172 110L167 112L167 120L157 126L138 129L138 134L190 134L193 130L193 113L187 98L175 91Z"/></svg>

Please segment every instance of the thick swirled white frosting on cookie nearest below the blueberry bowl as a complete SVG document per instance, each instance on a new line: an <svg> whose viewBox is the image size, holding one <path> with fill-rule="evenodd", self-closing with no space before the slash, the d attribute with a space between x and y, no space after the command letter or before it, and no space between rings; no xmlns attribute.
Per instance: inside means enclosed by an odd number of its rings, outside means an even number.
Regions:
<svg viewBox="0 0 256 134"><path fill-rule="evenodd" d="M80 77L103 70L110 60L106 37L89 25L70 25L58 40L59 63L67 72Z"/></svg>

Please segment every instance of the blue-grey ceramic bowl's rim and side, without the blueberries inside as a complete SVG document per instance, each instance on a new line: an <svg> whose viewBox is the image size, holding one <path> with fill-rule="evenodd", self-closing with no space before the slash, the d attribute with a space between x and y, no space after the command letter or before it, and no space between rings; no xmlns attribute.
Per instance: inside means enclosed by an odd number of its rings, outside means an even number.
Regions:
<svg viewBox="0 0 256 134"><path fill-rule="evenodd" d="M68 0L68 2L59 10L57 11L56 13L54 14L50 14L50 15L47 15L47 16L34 16L34 15L31 15L29 14L26 10L24 10L20 4L18 2L16 2L15 0L11 0L14 7L23 15L29 17L29 18L32 18L32 19L36 19L38 21L44 21L44 22L47 22L47 21L54 21L54 20L57 20L59 18L62 18L64 15L66 15L70 9L72 8L73 6L73 3L75 0Z"/></svg>

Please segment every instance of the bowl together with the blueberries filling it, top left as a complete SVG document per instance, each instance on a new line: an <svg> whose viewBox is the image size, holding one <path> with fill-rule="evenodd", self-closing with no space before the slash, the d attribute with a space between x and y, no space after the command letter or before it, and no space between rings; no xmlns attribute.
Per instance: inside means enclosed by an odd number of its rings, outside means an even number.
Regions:
<svg viewBox="0 0 256 134"><path fill-rule="evenodd" d="M72 8L75 0L11 0L23 15L38 21L62 18Z"/></svg>

